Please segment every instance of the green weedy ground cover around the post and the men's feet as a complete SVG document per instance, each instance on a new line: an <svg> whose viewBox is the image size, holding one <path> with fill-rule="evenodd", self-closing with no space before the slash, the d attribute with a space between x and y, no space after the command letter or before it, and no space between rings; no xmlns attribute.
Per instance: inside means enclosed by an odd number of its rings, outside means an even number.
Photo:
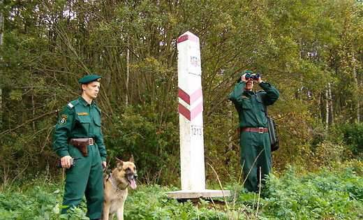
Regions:
<svg viewBox="0 0 363 220"><path fill-rule="evenodd" d="M125 219L362 219L362 166L304 173L290 168L269 177L258 193L244 193L239 184L224 186L226 200L169 200L173 186L141 185L126 201ZM211 189L209 187L209 189ZM214 189L217 189L214 187ZM0 219L88 219L85 205L61 215L62 185L36 180L0 191Z"/></svg>

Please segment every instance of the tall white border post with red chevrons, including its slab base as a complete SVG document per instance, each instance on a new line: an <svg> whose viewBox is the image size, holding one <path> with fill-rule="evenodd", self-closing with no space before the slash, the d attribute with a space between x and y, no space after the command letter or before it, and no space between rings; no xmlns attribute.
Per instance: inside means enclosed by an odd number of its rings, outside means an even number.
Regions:
<svg viewBox="0 0 363 220"><path fill-rule="evenodd" d="M199 38L187 31L177 39L180 166L182 191L169 198L230 196L230 191L205 189L202 69Z"/></svg>

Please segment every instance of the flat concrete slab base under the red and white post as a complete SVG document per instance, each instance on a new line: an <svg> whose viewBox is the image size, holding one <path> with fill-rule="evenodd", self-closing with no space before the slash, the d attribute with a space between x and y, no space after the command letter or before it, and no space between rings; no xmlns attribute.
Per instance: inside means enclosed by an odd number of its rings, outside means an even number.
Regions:
<svg viewBox="0 0 363 220"><path fill-rule="evenodd" d="M191 190L179 190L167 192L168 198L176 199L191 199L191 198L213 198L213 197L229 197L229 190L210 190L205 189L203 191L191 191Z"/></svg>

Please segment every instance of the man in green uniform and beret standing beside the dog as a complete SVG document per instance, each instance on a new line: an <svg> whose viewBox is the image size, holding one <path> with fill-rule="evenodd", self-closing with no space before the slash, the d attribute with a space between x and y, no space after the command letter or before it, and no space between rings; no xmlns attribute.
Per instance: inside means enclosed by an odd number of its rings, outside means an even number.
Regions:
<svg viewBox="0 0 363 220"><path fill-rule="evenodd" d="M86 75L78 81L82 95L61 112L53 136L53 149L61 157L61 166L66 168L63 201L66 208L62 213L79 205L85 195L90 219L101 218L103 168L106 167L101 110L94 102L100 89L99 80L99 75Z"/></svg>

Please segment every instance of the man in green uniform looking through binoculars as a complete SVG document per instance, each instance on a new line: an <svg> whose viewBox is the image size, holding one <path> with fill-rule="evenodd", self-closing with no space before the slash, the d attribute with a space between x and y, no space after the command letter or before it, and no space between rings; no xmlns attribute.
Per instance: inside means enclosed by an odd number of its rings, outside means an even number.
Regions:
<svg viewBox="0 0 363 220"><path fill-rule="evenodd" d="M279 91L260 76L255 79L252 71L244 71L229 99L235 104L239 116L239 146L247 191L258 191L260 175L263 179L272 168L271 146L267 131L265 106L272 105L279 98ZM258 83L263 90L255 93L253 84Z"/></svg>

